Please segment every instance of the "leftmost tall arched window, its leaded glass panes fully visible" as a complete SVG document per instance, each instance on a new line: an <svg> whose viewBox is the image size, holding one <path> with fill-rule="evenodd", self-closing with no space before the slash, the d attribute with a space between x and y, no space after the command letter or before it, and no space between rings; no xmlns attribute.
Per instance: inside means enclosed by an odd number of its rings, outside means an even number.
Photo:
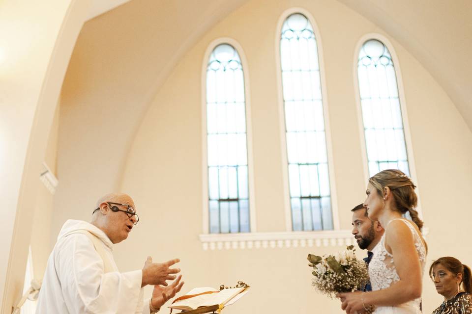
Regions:
<svg viewBox="0 0 472 314"><path fill-rule="evenodd" d="M236 49L216 46L207 64L210 233L249 232L244 75Z"/></svg>

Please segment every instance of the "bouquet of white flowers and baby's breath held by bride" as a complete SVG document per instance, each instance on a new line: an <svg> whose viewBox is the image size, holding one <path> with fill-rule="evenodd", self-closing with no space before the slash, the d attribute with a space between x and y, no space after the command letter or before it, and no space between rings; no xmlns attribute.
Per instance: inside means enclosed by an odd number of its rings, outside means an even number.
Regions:
<svg viewBox="0 0 472 314"><path fill-rule="evenodd" d="M339 292L362 289L369 282L369 273L365 262L355 258L354 251L354 245L350 245L335 256L308 254L308 265L313 267L313 287L331 298Z"/></svg>

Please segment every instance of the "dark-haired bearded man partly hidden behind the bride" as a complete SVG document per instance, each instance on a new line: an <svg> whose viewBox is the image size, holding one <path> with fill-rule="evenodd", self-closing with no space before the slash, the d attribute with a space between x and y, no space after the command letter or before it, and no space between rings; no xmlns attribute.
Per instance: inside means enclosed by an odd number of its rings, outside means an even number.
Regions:
<svg viewBox="0 0 472 314"><path fill-rule="evenodd" d="M352 234L357 241L357 245L362 250L367 249L367 257L364 258L364 261L369 266L370 260L374 255L372 250L379 243L382 238L383 230L382 225L378 221L371 220L367 215L367 209L362 204L357 205L353 209L353 231ZM370 283L367 283L362 291L372 291L372 286Z"/></svg>

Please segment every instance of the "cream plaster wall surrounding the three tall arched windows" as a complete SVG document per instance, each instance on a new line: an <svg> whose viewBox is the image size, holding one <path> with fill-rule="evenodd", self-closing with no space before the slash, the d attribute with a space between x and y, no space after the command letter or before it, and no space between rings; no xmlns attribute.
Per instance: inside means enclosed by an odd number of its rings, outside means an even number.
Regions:
<svg viewBox="0 0 472 314"><path fill-rule="evenodd" d="M179 62L156 94L129 151L121 189L129 192L140 212L139 227L118 245L118 263L126 268L146 255L168 260L179 257L185 289L231 284L238 279L253 286L227 313L341 313L339 302L310 287L307 253L336 248L291 248L203 251L201 65L207 45L231 37L248 60L258 231L283 231L283 182L277 104L274 41L277 21L292 6L315 18L324 47L327 101L330 112L337 201L342 229L350 228L354 205L364 198L353 74L354 47L365 33L378 32L398 55L416 160L417 183L431 259L454 255L472 263L472 252L461 244L471 213L464 198L472 188L472 135L442 87L382 29L333 1L251 1L213 27ZM454 231L454 232L452 232ZM447 236L445 236L447 234ZM147 240L145 240L147 239ZM426 275L427 276L427 275ZM424 280L424 311L441 302L428 278Z"/></svg>

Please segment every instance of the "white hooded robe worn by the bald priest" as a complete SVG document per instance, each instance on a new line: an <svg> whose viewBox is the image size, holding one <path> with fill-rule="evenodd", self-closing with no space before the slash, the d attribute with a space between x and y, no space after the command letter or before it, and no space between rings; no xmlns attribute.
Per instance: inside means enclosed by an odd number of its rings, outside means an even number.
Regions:
<svg viewBox="0 0 472 314"><path fill-rule="evenodd" d="M46 266L36 314L149 313L143 271L120 273L112 250L99 228L67 220Z"/></svg>

